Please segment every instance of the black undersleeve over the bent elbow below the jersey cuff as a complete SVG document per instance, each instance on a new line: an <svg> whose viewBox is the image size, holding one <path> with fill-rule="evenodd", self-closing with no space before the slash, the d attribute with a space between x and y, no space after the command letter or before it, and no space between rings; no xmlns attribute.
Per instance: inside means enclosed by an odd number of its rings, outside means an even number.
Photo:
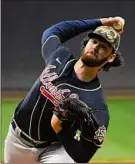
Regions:
<svg viewBox="0 0 135 164"><path fill-rule="evenodd" d="M57 135L66 152L76 163L88 163L98 149L93 142L89 142L81 136L80 141L75 140L70 133L63 129Z"/></svg>

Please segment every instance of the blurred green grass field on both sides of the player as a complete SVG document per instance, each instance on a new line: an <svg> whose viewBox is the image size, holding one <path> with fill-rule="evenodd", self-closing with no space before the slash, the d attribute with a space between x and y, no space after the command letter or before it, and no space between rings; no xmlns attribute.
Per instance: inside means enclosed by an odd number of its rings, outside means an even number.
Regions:
<svg viewBox="0 0 135 164"><path fill-rule="evenodd" d="M135 162L135 98L108 98L110 125L103 147L94 161ZM18 100L2 100L2 160L4 139Z"/></svg>

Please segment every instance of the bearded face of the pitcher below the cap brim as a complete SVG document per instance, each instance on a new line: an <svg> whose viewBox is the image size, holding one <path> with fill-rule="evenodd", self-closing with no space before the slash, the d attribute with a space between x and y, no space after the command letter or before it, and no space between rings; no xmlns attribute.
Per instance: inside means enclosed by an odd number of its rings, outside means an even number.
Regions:
<svg viewBox="0 0 135 164"><path fill-rule="evenodd" d="M113 48L100 38L91 38L83 49L81 60L89 67L101 66L112 54Z"/></svg>

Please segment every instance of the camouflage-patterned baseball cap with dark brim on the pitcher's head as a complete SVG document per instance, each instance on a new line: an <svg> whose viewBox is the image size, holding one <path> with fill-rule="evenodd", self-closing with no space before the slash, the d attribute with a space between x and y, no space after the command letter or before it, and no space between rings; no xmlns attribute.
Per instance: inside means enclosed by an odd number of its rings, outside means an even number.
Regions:
<svg viewBox="0 0 135 164"><path fill-rule="evenodd" d="M88 33L88 37L104 38L117 52L120 46L120 34L111 26L99 26L93 32Z"/></svg>

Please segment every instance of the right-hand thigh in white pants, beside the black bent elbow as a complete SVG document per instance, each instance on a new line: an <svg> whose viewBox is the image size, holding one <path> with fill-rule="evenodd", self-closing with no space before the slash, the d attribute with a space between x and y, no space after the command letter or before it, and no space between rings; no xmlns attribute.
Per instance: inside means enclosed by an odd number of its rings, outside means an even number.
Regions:
<svg viewBox="0 0 135 164"><path fill-rule="evenodd" d="M51 144L39 157L41 163L74 163L64 147L59 143Z"/></svg>

